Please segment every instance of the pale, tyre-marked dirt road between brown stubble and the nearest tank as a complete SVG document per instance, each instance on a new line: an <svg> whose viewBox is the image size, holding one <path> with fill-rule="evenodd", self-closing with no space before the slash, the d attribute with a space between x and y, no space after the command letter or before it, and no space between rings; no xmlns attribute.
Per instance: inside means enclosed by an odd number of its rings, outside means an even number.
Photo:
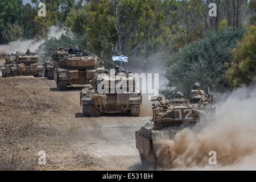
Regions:
<svg viewBox="0 0 256 182"><path fill-rule="evenodd" d="M67 141L75 148L84 148L104 169L135 169L140 158L135 147L135 131L148 122L148 117L104 115L99 118L82 117L80 87L56 92L71 106L73 115ZM100 167L100 168L101 168Z"/></svg>

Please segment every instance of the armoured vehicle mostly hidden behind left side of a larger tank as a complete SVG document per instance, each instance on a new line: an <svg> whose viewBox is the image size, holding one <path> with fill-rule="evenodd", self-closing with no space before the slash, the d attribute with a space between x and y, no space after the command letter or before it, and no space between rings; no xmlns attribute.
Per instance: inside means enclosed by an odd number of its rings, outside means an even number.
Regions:
<svg viewBox="0 0 256 182"><path fill-rule="evenodd" d="M60 48L58 50L50 49L52 51L52 59L49 61L44 62L44 77L46 77L48 80L54 79L54 64L57 61L60 61L65 56L68 55L68 51L65 51L63 48Z"/></svg>

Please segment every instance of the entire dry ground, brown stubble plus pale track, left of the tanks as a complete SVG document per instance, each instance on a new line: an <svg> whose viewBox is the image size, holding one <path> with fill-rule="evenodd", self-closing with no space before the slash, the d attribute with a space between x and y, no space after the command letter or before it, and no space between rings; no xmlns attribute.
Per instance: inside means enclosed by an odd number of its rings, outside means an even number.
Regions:
<svg viewBox="0 0 256 182"><path fill-rule="evenodd" d="M0 152L34 169L141 169L134 134L150 117L82 117L79 92L44 78L0 78ZM39 166L38 152L47 165Z"/></svg>

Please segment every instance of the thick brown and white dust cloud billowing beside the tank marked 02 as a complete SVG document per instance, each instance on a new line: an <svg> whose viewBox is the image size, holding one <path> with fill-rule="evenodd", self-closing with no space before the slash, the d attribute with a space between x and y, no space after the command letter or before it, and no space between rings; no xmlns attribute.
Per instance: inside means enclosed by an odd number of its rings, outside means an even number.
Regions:
<svg viewBox="0 0 256 182"><path fill-rule="evenodd" d="M212 121L160 141L156 156L164 169L255 169L256 87L242 87L221 98ZM217 152L217 165L209 165L209 151Z"/></svg>

